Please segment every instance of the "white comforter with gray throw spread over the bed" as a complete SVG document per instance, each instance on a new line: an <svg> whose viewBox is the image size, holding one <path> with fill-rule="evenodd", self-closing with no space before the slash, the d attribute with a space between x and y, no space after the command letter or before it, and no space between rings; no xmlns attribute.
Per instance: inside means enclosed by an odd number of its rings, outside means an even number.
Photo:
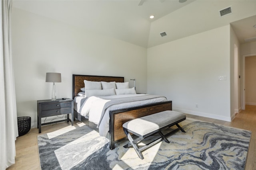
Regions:
<svg viewBox="0 0 256 170"><path fill-rule="evenodd" d="M164 101L167 99L163 96L148 94L92 96L84 102L79 113L84 117L89 116L89 121L98 125L100 135L106 137L109 131L110 110Z"/></svg>

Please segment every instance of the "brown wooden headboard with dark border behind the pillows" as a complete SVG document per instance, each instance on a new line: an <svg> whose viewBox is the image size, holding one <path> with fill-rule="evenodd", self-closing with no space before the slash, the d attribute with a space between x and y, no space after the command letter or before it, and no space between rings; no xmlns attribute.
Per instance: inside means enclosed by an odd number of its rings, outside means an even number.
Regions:
<svg viewBox="0 0 256 170"><path fill-rule="evenodd" d="M124 82L124 77L113 77L113 76L88 76L88 75L77 75L72 74L72 97L74 99L75 96L79 92L81 92L80 88L84 87L84 80L94 81L94 82Z"/></svg>

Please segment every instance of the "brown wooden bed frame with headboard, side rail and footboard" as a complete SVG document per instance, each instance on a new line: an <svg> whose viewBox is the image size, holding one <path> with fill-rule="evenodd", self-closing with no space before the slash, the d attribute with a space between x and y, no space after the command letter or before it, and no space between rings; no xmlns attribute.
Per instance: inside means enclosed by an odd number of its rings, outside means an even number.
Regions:
<svg viewBox="0 0 256 170"><path fill-rule="evenodd" d="M124 82L124 77L114 76L88 76L88 75L72 75L72 96L73 99L81 92L80 88L84 87L84 80L88 81L104 81L104 82ZM126 138L122 125L132 119L158 113L160 111L172 110L172 101L158 102L154 104L146 104L137 107L129 107L125 109L117 109L110 111L110 129L109 129L109 148L115 148L115 142ZM74 110L74 117L82 121L80 113Z"/></svg>

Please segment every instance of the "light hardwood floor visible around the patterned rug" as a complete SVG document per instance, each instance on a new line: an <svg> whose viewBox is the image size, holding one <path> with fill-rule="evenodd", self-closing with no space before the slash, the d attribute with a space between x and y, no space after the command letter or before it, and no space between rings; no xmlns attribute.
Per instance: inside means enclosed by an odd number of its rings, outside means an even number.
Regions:
<svg viewBox="0 0 256 170"><path fill-rule="evenodd" d="M186 115L187 117L193 119L252 131L245 170L256 169L256 106L246 105L246 109L238 113L232 122L220 121L189 114ZM74 122L75 126L78 124L80 124L79 121ZM66 126L70 126L70 123L63 122L46 125L42 127L42 133L40 134L49 133ZM26 135L17 138L15 164L7 168L7 170L40 170L37 135L39 135L38 129L32 128Z"/></svg>

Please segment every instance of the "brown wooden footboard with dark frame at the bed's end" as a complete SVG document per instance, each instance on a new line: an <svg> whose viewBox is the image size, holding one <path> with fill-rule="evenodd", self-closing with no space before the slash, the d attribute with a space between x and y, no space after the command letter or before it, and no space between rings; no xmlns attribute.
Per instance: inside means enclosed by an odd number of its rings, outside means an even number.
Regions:
<svg viewBox="0 0 256 170"><path fill-rule="evenodd" d="M126 137L122 127L125 122L165 110L172 110L172 101L110 111L109 148L114 149L115 142Z"/></svg>

